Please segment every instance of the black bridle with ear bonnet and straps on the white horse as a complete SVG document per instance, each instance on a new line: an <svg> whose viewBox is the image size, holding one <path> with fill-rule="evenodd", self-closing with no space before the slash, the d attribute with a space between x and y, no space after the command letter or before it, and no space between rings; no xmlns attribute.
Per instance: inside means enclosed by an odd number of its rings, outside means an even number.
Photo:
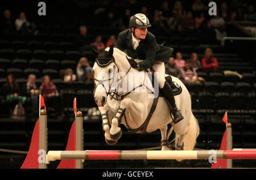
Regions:
<svg viewBox="0 0 256 180"><path fill-rule="evenodd" d="M126 56L126 58L128 59L127 56ZM100 60L108 60L108 62L102 63ZM114 62L115 66L117 66L117 73L119 73L118 65L115 63L115 58L114 58L113 56L112 56L112 57L96 58L96 62L97 62L97 64L98 64L99 66L108 66L109 64L111 64L112 62ZM115 66L114 66L114 72L115 72ZM132 68L132 67L131 67L131 65L130 65L130 68L129 68L129 69L127 70L127 72L125 73L125 76L121 79L121 81L118 82L119 85L121 85L121 83L123 82L123 79L125 79L125 77L127 76L127 74L130 72L131 68ZM111 75L111 74L110 74L110 75ZM134 90L137 89L138 87L146 86L146 85L144 85L144 82L145 82L145 79L146 79L146 76L145 76L145 77L144 77L144 81L143 81L143 83L142 83L141 85L139 85L139 86L137 86L137 87L134 87L133 90L127 92L126 94L123 94L122 92L121 92L121 93L118 93L119 85L118 85L117 87L115 87L114 90L111 89L112 83L114 82L114 81L113 81L113 80L114 80L114 77L115 77L115 74L114 74L114 73L113 73L113 77L110 77L110 78L108 78L108 79L102 79L102 80L100 80L100 79L96 79L96 78L93 77L93 79L98 82L97 85L95 85L95 83L94 83L94 90L97 88L98 85L102 85L102 86L104 87L105 92L106 92L106 97L108 97L108 95L109 95L110 99L115 99L115 100L117 100L117 101L121 101L123 98L126 97L126 95L130 94L132 91L134 91ZM109 86L108 91L107 91L106 87L104 86L104 82L105 82L105 81L112 81L112 82L110 83L110 86ZM150 90L147 86L146 86L146 88L147 88L148 90ZM150 90L150 91L151 91L151 93L153 93L152 90Z"/></svg>

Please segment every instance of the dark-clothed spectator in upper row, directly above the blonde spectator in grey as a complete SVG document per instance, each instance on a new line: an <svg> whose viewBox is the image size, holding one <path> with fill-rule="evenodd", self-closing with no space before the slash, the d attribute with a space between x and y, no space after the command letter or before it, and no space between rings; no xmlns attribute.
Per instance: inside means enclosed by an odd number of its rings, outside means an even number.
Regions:
<svg viewBox="0 0 256 180"><path fill-rule="evenodd" d="M91 43L90 38L87 35L87 27L80 26L79 28L79 35L76 37L75 44L77 47L80 47L80 51L84 51L86 47Z"/></svg>

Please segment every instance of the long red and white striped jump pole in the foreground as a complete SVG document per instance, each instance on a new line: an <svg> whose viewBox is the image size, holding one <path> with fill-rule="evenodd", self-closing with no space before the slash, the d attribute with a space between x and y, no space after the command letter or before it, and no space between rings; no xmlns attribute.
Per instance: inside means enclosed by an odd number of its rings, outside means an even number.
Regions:
<svg viewBox="0 0 256 180"><path fill-rule="evenodd" d="M63 159L79 160L256 160L256 150L49 150L46 163Z"/></svg>

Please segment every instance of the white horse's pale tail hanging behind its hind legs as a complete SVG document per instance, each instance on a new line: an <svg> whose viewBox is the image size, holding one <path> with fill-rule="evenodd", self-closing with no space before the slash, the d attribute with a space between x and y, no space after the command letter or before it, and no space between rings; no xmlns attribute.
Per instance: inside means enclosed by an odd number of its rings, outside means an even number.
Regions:
<svg viewBox="0 0 256 180"><path fill-rule="evenodd" d="M184 150L193 150L196 145L196 138L199 136L200 128L197 119L191 112L191 118L189 120L188 131L184 136Z"/></svg>

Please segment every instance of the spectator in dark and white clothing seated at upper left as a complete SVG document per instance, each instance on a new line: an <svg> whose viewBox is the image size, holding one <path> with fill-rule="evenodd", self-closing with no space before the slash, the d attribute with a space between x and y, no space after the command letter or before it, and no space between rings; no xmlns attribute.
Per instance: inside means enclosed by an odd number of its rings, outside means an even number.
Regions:
<svg viewBox="0 0 256 180"><path fill-rule="evenodd" d="M32 32L33 25L26 19L25 12L20 12L19 18L15 20L15 27L18 32Z"/></svg>

